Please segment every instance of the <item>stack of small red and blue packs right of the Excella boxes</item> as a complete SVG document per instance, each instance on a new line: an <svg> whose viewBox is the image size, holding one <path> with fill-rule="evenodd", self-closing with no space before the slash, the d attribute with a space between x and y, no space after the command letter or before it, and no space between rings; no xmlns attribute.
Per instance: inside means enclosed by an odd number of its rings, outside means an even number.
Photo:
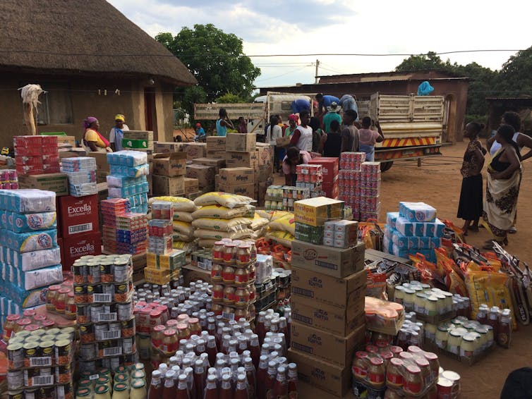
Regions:
<svg viewBox="0 0 532 399"><path fill-rule="evenodd" d="M145 213L131 211L130 200L111 198L100 203L104 250L112 254L143 254L147 250Z"/></svg>

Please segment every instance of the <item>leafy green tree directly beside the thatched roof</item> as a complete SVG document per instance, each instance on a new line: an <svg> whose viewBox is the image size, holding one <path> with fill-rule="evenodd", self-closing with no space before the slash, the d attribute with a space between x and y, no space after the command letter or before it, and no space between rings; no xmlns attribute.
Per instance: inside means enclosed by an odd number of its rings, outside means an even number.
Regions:
<svg viewBox="0 0 532 399"><path fill-rule="evenodd" d="M159 33L155 39L191 70L208 102L226 93L246 98L253 92L260 68L243 54L242 39L236 35L207 24L183 27L175 37Z"/></svg>

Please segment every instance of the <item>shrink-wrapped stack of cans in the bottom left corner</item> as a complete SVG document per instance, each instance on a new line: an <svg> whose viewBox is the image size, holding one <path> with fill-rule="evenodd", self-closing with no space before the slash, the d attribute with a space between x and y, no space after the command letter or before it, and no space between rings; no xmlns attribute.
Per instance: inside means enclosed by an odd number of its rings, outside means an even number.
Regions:
<svg viewBox="0 0 532 399"><path fill-rule="evenodd" d="M73 398L74 329L19 331L9 340L10 397ZM36 392L37 388L37 392Z"/></svg>

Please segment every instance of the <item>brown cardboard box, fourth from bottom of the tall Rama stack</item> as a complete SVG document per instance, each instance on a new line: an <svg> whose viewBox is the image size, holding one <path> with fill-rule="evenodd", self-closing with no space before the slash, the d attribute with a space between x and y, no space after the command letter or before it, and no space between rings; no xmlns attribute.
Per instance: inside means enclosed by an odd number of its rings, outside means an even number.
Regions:
<svg viewBox="0 0 532 399"><path fill-rule="evenodd" d="M360 301L363 306L366 280L365 270L346 278L336 278L294 266L291 274L292 297L339 307L347 311L348 319L352 319L359 312L357 305Z"/></svg>

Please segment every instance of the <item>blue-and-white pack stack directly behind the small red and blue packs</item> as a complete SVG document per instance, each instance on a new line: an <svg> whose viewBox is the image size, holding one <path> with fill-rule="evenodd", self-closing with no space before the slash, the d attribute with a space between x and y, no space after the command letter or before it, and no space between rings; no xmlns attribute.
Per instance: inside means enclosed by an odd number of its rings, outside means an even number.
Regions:
<svg viewBox="0 0 532 399"><path fill-rule="evenodd" d="M119 151L107 154L109 176L107 184L110 198L126 198L131 203L131 212L147 214L148 184L150 173L147 155L140 151Z"/></svg>

